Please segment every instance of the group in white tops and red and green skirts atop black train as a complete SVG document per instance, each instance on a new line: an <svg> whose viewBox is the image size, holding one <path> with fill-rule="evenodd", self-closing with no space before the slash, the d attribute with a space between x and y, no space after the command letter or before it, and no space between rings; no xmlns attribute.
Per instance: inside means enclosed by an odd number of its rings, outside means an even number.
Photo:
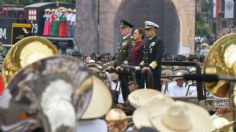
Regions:
<svg viewBox="0 0 236 132"><path fill-rule="evenodd" d="M76 9L45 9L43 36L74 37L76 24Z"/></svg>

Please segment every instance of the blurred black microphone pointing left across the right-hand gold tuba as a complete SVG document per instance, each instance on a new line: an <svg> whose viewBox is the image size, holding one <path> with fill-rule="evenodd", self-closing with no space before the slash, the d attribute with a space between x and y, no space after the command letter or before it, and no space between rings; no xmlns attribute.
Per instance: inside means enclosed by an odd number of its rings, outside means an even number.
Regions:
<svg viewBox="0 0 236 132"><path fill-rule="evenodd" d="M217 74L185 74L183 77L185 80L196 80L198 82L236 81L235 77L219 76Z"/></svg>

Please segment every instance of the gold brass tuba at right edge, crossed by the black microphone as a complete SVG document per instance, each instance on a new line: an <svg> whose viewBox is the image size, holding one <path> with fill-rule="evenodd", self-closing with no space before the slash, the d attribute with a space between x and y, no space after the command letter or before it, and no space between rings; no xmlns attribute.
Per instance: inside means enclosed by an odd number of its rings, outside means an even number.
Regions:
<svg viewBox="0 0 236 132"><path fill-rule="evenodd" d="M217 40L205 58L203 73L236 76L236 34L228 34ZM229 97L229 82L221 80L205 83L210 93Z"/></svg>

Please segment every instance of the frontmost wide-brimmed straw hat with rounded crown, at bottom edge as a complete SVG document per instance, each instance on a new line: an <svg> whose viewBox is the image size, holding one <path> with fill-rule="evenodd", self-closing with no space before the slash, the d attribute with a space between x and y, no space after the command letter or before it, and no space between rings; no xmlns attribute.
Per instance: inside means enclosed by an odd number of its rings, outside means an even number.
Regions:
<svg viewBox="0 0 236 132"><path fill-rule="evenodd" d="M154 102L147 106L148 119L161 132L210 132L209 113L195 104L177 101Z"/></svg>

